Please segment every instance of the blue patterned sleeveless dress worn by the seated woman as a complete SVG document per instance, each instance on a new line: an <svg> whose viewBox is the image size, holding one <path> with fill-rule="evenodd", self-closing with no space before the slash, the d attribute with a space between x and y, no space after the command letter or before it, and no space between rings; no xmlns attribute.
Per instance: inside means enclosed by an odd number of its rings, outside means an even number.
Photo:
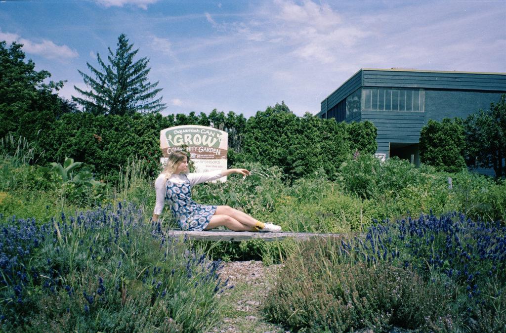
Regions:
<svg viewBox="0 0 506 333"><path fill-rule="evenodd" d="M171 211L183 230L202 231L207 227L218 207L193 201L188 178L183 184L167 180L165 200L170 204Z"/></svg>

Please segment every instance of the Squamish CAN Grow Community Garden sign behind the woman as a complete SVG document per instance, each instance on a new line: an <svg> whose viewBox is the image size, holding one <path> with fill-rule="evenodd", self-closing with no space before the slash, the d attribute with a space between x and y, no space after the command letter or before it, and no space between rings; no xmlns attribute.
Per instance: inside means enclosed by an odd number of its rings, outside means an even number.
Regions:
<svg viewBox="0 0 506 333"><path fill-rule="evenodd" d="M227 169L228 133L198 125L176 126L160 131L160 148L165 164L168 155L186 145L196 172ZM227 177L220 178L226 181Z"/></svg>

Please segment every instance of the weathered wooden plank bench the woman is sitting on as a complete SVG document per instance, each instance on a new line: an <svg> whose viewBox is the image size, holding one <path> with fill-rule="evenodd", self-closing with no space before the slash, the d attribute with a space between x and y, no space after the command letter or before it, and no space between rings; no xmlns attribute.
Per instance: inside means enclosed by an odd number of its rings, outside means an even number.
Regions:
<svg viewBox="0 0 506 333"><path fill-rule="evenodd" d="M286 238L297 240L310 240L314 238L339 237L340 234L320 234L311 232L249 232L249 231L228 231L228 230L208 230L208 231L184 231L168 230L165 232L168 236L184 237L187 235L191 240L212 240L212 241L241 241L261 238L265 241L278 241Z"/></svg>

